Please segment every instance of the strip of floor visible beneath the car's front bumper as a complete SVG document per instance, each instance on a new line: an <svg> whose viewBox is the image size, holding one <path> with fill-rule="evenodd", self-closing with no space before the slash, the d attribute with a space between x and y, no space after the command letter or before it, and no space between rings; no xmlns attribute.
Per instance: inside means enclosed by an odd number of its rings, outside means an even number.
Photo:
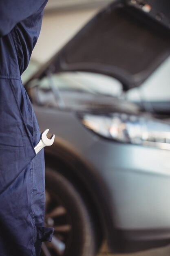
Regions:
<svg viewBox="0 0 170 256"><path fill-rule="evenodd" d="M135 254L110 254L103 247L98 256L170 256L170 245Z"/></svg>

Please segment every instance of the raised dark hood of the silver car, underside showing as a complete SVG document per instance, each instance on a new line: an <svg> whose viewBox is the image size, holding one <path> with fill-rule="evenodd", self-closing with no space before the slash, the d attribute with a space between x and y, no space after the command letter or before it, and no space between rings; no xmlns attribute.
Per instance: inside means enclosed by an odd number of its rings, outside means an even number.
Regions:
<svg viewBox="0 0 170 256"><path fill-rule="evenodd" d="M52 72L87 71L141 85L170 55L170 1L117 0L100 11L44 65Z"/></svg>

